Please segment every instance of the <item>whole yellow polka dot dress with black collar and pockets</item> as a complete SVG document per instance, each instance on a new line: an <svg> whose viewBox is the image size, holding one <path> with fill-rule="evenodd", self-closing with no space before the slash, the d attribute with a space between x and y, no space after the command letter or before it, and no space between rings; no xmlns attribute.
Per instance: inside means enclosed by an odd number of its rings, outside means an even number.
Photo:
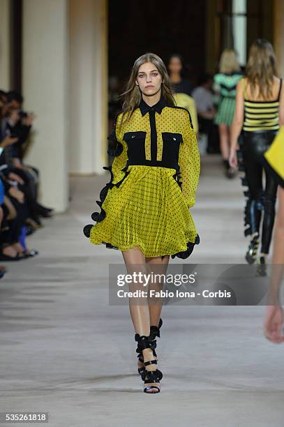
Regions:
<svg viewBox="0 0 284 427"><path fill-rule="evenodd" d="M188 110L161 98L141 101L128 121L117 117L109 139L116 142L110 181L100 191L96 224L84 227L91 244L145 257L185 259L199 244L188 208L195 204L200 153Z"/></svg>

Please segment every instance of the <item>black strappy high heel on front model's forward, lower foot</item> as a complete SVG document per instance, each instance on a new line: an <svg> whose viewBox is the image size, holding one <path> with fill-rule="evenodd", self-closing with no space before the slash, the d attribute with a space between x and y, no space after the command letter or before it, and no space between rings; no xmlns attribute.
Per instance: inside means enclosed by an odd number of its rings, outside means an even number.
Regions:
<svg viewBox="0 0 284 427"><path fill-rule="evenodd" d="M138 343L138 346L140 347L141 351L149 349L152 350L153 355L156 354L155 348L156 348L156 340L151 340L151 336L140 336L139 334L135 335L135 340ZM154 354L155 352L155 354ZM156 357L156 356L155 356ZM144 381L144 384L147 384L144 387L144 393L160 393L160 387L155 384L160 384L160 380L163 378L163 373L159 370L148 370L147 367L151 365L156 365L158 359L150 359L149 361L144 361L144 370L141 374L142 380ZM154 391L155 390L155 391Z"/></svg>

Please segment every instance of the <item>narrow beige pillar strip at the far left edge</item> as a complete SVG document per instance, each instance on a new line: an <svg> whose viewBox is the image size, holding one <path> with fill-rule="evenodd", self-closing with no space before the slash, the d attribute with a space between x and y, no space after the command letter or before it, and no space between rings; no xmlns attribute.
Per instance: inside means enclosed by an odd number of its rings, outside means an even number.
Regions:
<svg viewBox="0 0 284 427"><path fill-rule="evenodd" d="M10 90L10 0L0 0L0 89Z"/></svg>

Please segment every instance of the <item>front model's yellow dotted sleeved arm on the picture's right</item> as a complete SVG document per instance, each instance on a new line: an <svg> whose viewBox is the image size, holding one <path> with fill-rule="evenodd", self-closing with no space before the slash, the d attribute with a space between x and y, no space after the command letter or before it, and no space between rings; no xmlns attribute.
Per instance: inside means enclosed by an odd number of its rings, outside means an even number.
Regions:
<svg viewBox="0 0 284 427"><path fill-rule="evenodd" d="M184 110L183 142L179 147L179 170L181 172L181 191L188 207L195 204L195 192L200 177L200 152L189 112Z"/></svg>

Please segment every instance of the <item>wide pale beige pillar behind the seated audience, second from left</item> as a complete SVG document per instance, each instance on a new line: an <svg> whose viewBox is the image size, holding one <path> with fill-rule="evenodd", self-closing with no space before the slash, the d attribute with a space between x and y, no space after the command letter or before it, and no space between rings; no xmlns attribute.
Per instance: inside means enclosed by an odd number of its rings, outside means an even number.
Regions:
<svg viewBox="0 0 284 427"><path fill-rule="evenodd" d="M40 170L40 202L58 212L68 206L67 0L23 0L22 92L35 112L25 162Z"/></svg>

